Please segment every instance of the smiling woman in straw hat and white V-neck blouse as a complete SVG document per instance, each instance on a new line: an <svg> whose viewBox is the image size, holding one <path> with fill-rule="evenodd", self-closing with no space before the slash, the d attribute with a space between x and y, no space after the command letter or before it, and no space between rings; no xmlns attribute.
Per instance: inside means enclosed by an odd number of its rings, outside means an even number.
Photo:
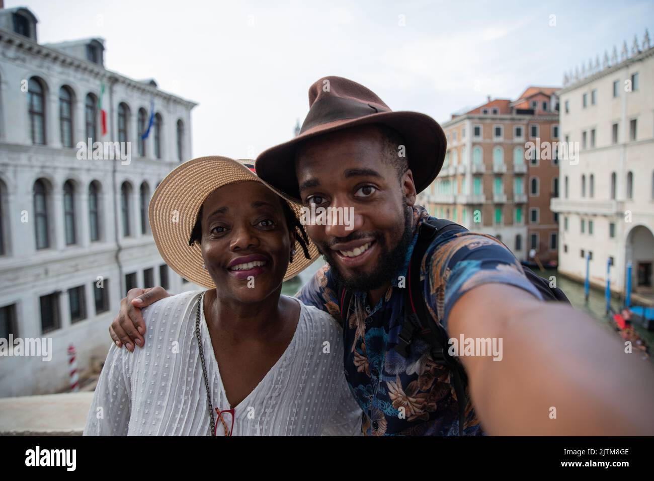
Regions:
<svg viewBox="0 0 654 481"><path fill-rule="evenodd" d="M111 346L84 435L360 434L340 327L281 296L318 255L299 211L251 161L197 158L163 179L152 236L175 272L209 289L144 309L145 347Z"/></svg>

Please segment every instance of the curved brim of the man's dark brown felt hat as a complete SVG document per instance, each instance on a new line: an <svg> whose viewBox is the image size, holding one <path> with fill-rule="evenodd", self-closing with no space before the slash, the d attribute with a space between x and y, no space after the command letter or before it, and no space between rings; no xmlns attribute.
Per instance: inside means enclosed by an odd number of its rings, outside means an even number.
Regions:
<svg viewBox="0 0 654 481"><path fill-rule="evenodd" d="M366 124L386 125L404 137L416 192L422 192L436 179L447 150L445 133L430 116L404 111L382 112L321 124L262 152L256 159L256 172L264 181L286 194L286 198L300 203L298 178L295 175L298 144L319 135Z"/></svg>

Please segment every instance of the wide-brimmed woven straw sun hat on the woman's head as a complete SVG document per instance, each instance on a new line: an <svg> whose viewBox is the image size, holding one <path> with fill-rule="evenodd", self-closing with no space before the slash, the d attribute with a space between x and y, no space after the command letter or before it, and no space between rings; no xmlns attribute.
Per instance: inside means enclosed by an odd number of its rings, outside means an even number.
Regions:
<svg viewBox="0 0 654 481"><path fill-rule="evenodd" d="M173 169L154 191L148 209L152 237L160 254L177 274L203 287L216 287L209 272L202 266L204 260L198 243L188 245L198 212L207 196L216 188L245 181L260 182L279 194L279 191L262 181L254 173L253 160L233 160L227 157L200 157L184 162ZM298 219L301 205L287 201ZM284 281L296 276L317 257L318 249L309 240L307 259L296 241L296 255L288 264Z"/></svg>

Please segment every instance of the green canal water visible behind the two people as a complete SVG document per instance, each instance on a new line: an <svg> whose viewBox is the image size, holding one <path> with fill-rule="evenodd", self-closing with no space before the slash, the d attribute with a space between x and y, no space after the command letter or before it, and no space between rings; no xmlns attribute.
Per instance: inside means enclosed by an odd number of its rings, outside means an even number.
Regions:
<svg viewBox="0 0 654 481"><path fill-rule="evenodd" d="M299 276L296 276L293 279L284 282L282 288L282 294L286 294L287 296L292 296L293 294L298 292L298 289L300 289L300 287L305 282L311 279L311 276L313 276L313 274L315 274L315 272L322 266L324 266L324 260L322 258L318 258L318 260L316 260L316 262L311 264L311 266L309 266L306 270L300 272ZM586 302L584 299L582 283L578 283L566 277L559 276L556 270L540 271L536 269L534 270L534 272L536 272L536 274L548 280L550 276L556 276L557 287L559 287L566 294L566 296L568 296L568 299L570 299L570 303L572 304L572 306L574 306L579 310L582 310L583 312L588 313L591 317L593 317L593 319L595 319L598 325L602 326L604 329L608 329L611 332L614 332L615 335L617 336L617 332L615 332L615 330L613 330L613 328L608 323L608 321L606 321L606 315L605 315L606 300L604 299L604 291L591 289L589 294L589 300L588 302ZM621 308L621 305L622 305L621 300L611 298L611 306L613 307L614 310L619 310ZM651 330L648 331L640 325L634 325L634 329L636 330L636 332L638 332L640 337L650 346L650 349L653 349L654 331ZM654 355L650 356L649 359L650 361L654 362Z"/></svg>

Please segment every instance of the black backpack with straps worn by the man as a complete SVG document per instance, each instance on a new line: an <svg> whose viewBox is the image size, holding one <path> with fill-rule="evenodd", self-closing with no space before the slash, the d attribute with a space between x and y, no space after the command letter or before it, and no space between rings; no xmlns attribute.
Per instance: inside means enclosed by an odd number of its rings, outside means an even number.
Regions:
<svg viewBox="0 0 654 481"><path fill-rule="evenodd" d="M461 363L453 359L447 352L447 347L449 346L447 333L430 315L424 302L424 291L421 289L420 283L420 264L436 234L455 228L467 231L466 228L455 222L447 219L435 219L434 217L425 219L420 225L418 239L413 248L411 262L409 262L407 288L404 290L404 325L398 336L399 342L394 349L403 357L409 357L411 343L415 338L421 338L430 346L430 353L434 362L441 366L448 366L451 369L456 400L458 402L458 434L462 436L467 404L465 387L468 384L468 376L466 376ZM525 270L527 279L538 289L544 300L567 302L570 304L566 294L558 287L550 287L549 282L543 279L543 277L538 276L528 267L523 266L523 270ZM343 288L339 289L339 299L341 301L339 306L341 308L343 323L345 323L351 298L351 291Z"/></svg>

